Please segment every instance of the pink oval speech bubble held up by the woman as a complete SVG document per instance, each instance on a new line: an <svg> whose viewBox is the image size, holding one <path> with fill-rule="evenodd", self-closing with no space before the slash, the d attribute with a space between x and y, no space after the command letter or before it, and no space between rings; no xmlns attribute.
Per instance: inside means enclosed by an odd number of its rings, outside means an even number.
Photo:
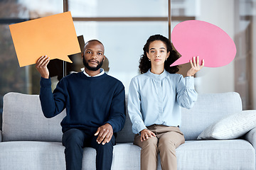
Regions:
<svg viewBox="0 0 256 170"><path fill-rule="evenodd" d="M205 60L205 67L222 67L236 54L235 42L224 30L205 21L178 23L171 41L181 57L171 66L188 63L194 56Z"/></svg>

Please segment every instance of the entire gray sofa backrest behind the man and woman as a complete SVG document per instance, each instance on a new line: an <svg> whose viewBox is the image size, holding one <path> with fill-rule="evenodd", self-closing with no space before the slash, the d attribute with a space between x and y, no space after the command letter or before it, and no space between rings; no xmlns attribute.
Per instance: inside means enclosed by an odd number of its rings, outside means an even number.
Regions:
<svg viewBox="0 0 256 170"><path fill-rule="evenodd" d="M38 95L9 93L4 96L3 141L36 140L61 142L60 122L65 110L54 118L45 118ZM196 137L209 125L221 118L242 111L240 95L198 94L191 109L182 108L181 131L186 140ZM117 142L133 142L132 123L127 114L124 128L117 132Z"/></svg>

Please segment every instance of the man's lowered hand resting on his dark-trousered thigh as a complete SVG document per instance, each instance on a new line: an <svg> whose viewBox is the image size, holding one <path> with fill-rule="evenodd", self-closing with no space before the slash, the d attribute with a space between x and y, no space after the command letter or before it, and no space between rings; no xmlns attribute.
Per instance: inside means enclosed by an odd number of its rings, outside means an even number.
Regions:
<svg viewBox="0 0 256 170"><path fill-rule="evenodd" d="M102 145L105 145L105 143L110 142L112 135L113 135L113 128L109 123L106 123L105 125L102 125L100 128L97 129L97 132L95 133L95 136L97 136L97 142L98 144L102 143Z"/></svg>

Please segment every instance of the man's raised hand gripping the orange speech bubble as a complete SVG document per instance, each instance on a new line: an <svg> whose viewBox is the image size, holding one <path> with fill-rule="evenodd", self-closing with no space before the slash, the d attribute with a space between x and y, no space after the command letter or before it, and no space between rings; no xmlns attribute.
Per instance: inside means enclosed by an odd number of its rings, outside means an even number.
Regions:
<svg viewBox="0 0 256 170"><path fill-rule="evenodd" d="M40 57L36 62L36 69L41 74L41 77L49 79L49 70L47 68L48 63L50 62L47 55Z"/></svg>

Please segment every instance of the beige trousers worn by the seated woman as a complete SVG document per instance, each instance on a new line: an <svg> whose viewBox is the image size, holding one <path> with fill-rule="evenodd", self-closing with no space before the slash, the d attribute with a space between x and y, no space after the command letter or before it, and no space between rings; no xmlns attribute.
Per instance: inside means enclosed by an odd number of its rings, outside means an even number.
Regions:
<svg viewBox="0 0 256 170"><path fill-rule="evenodd" d="M138 145L141 150L141 169L156 170L157 156L160 154L161 169L176 170L176 148L185 142L183 133L178 127L165 125L151 125L147 127L154 132L156 137L140 140L140 135L135 135L134 145Z"/></svg>

